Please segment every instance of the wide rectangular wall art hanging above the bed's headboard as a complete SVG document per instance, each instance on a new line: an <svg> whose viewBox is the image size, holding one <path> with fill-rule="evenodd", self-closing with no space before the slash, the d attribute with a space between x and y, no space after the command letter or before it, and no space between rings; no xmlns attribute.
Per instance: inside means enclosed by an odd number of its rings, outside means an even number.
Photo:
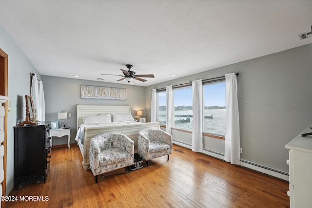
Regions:
<svg viewBox="0 0 312 208"><path fill-rule="evenodd" d="M81 98L126 100L127 89L81 85Z"/></svg>

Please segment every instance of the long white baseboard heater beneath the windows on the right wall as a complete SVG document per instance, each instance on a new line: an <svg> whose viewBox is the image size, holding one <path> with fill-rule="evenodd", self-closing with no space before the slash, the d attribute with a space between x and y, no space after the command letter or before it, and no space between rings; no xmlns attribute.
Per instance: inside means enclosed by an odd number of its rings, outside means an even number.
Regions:
<svg viewBox="0 0 312 208"><path fill-rule="evenodd" d="M178 146L187 148L187 149L192 149L192 145L185 143L185 142L173 140L173 143L178 145ZM222 153L222 152L212 151L212 150L208 150L208 149L203 148L203 153L207 154L209 156L215 157L217 159L224 160L224 153ZM240 159L239 165L242 167L245 167L245 168L249 168L252 170L262 172L264 174L271 175L273 177L276 177L276 178L279 178L279 179L282 179L285 181L289 181L289 173L285 172L285 171L273 169L273 168L270 168L270 167L267 167L267 166L264 166L261 164L257 164L257 163L254 163L254 162L251 162L248 160L244 160L244 159Z"/></svg>

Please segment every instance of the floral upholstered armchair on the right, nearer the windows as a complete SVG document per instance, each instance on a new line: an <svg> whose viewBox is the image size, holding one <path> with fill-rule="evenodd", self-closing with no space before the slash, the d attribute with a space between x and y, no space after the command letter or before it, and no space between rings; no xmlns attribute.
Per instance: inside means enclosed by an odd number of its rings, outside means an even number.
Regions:
<svg viewBox="0 0 312 208"><path fill-rule="evenodd" d="M137 151L148 161L156 157L172 154L172 135L158 129L144 129L137 133ZM168 161L167 160L167 161Z"/></svg>

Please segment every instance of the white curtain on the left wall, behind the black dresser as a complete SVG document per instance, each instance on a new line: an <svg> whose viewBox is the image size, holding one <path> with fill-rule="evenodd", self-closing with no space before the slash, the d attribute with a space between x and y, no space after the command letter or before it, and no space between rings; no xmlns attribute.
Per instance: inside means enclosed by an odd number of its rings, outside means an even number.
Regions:
<svg viewBox="0 0 312 208"><path fill-rule="evenodd" d="M34 75L32 78L30 96L34 103L34 109L37 111L37 120L45 121L43 82L38 82L37 75Z"/></svg>

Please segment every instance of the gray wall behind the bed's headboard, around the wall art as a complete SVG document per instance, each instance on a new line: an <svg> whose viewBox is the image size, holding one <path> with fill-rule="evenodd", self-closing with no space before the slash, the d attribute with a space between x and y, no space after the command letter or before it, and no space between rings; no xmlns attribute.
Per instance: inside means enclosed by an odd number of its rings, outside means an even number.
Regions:
<svg viewBox="0 0 312 208"><path fill-rule="evenodd" d="M71 127L71 143L76 143L77 133L77 104L80 105L130 105L133 117L136 111L143 110L145 117L145 87L131 84L108 83L101 81L89 81L75 78L62 78L57 76L41 76L44 86L45 96L45 116L46 121L59 121L58 112L72 113L72 117L65 119L66 127ZM108 99L81 99L80 85L116 87L127 89L127 100ZM143 95L143 96L142 96ZM53 145L67 144L67 137L53 137Z"/></svg>

